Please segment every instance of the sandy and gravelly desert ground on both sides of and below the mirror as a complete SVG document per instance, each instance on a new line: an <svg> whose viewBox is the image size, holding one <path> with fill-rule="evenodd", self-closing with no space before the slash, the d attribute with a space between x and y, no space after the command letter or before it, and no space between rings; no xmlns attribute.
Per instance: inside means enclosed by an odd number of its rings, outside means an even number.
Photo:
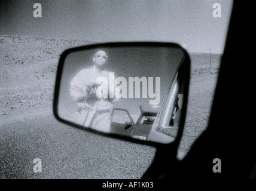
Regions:
<svg viewBox="0 0 256 191"><path fill-rule="evenodd" d="M60 124L53 117L60 54L90 43L0 36L0 178L139 178L147 170L154 147L99 139ZM221 54L211 54L211 60L206 53L190 53L190 57L190 90L180 158L207 127L221 61ZM47 164L40 174L33 173L34 158Z"/></svg>

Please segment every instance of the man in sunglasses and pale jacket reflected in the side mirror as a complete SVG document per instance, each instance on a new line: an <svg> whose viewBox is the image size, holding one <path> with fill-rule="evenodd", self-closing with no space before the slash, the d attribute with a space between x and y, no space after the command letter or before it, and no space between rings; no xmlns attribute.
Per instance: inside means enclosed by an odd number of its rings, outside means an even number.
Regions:
<svg viewBox="0 0 256 191"><path fill-rule="evenodd" d="M109 82L109 72L105 70L108 63L106 51L97 51L93 56L93 63L93 67L81 70L72 79L70 95L72 100L77 101L78 104L77 123L79 125L109 133L111 124L110 110L112 103L118 101L118 91L115 91L114 96L109 96L108 87L103 87L100 89L108 91L107 93L105 92L108 97L99 97L97 95L97 88L103 85L97 82L97 79L103 77L108 79Z"/></svg>

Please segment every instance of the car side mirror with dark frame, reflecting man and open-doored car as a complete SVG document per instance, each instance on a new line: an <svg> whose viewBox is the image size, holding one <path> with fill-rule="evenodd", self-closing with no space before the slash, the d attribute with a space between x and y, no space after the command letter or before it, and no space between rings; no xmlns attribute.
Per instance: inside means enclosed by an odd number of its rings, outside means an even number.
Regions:
<svg viewBox="0 0 256 191"><path fill-rule="evenodd" d="M180 45L115 42L63 52L54 116L94 133L172 143L182 135L190 58Z"/></svg>

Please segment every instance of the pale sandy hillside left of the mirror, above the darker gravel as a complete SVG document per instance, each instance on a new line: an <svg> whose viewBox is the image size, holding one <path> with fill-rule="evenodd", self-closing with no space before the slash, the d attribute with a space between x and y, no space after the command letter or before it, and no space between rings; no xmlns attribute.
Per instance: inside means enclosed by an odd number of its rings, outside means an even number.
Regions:
<svg viewBox="0 0 256 191"><path fill-rule="evenodd" d="M51 113L60 54L88 43L1 35L0 125Z"/></svg>

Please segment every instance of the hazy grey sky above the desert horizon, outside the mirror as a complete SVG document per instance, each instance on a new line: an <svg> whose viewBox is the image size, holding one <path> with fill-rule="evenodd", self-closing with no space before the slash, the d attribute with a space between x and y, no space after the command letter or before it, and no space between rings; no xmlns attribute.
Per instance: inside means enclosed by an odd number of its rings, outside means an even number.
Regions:
<svg viewBox="0 0 256 191"><path fill-rule="evenodd" d="M0 34L106 41L171 41L223 53L232 0L0 0ZM33 4L42 17L33 17ZM213 5L221 5L215 18Z"/></svg>

